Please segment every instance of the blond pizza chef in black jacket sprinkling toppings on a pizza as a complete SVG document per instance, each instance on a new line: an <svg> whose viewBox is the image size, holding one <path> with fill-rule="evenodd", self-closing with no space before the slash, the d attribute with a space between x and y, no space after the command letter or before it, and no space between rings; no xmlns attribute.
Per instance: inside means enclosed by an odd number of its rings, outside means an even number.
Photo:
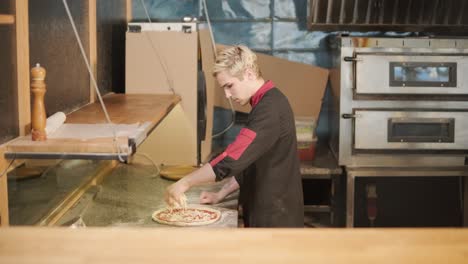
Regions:
<svg viewBox="0 0 468 264"><path fill-rule="evenodd" d="M240 186L244 226L303 227L302 181L288 99L262 78L257 56L246 46L220 51L213 75L226 97L251 104L247 124L219 156L169 186L166 202L180 205L192 186L235 175L219 193L202 193L200 201L217 202Z"/></svg>

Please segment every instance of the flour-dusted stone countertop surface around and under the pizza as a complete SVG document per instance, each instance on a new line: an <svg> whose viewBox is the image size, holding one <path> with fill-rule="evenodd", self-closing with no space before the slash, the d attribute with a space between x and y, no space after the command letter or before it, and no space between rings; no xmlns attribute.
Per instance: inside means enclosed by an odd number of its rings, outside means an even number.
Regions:
<svg viewBox="0 0 468 264"><path fill-rule="evenodd" d="M89 189L58 225L69 225L79 219L85 226L169 227L154 222L151 215L166 206L164 192L172 183L174 181L159 177L152 166L119 164L100 185ZM201 191L216 192L223 184L217 182L191 188L186 193L187 203L199 204ZM205 206L220 210L222 215L219 221L201 228L237 227L237 193L227 196L222 203Z"/></svg>

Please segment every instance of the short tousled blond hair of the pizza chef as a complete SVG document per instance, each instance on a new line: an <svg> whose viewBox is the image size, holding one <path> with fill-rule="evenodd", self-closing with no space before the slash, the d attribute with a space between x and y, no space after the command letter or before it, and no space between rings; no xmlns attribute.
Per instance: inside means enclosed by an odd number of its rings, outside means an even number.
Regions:
<svg viewBox="0 0 468 264"><path fill-rule="evenodd" d="M213 76L227 71L230 75L242 80L247 69L252 70L257 77L262 75L257 64L257 55L246 46L237 45L218 52L213 67Z"/></svg>

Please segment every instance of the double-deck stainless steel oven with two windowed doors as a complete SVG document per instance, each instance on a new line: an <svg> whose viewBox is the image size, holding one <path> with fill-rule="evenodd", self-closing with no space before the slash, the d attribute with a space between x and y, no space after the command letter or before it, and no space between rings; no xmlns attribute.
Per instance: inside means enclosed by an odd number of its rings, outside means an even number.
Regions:
<svg viewBox="0 0 468 264"><path fill-rule="evenodd" d="M468 40L344 37L337 59L340 165L466 165Z"/></svg>

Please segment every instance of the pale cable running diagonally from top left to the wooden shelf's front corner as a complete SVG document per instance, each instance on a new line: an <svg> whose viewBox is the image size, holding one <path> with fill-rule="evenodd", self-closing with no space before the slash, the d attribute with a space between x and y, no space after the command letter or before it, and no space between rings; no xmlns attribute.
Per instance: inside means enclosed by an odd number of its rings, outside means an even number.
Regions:
<svg viewBox="0 0 468 264"><path fill-rule="evenodd" d="M119 146L117 144L117 132L115 131L115 126L112 123L112 121L110 120L109 114L107 113L106 106L104 104L104 101L102 100L101 92L99 91L99 87L97 85L96 79L94 78L93 71L91 70L91 64L89 63L88 58L86 57L86 52L85 52L85 50L83 48L81 38L78 35L78 30L76 29L75 21L73 20L73 17L71 15L70 8L68 7L67 0L63 0L63 6L65 7L65 11L67 12L68 19L70 20L70 23L72 25L73 32L75 33L76 41L78 42L78 46L80 47L81 55L82 55L83 60L84 60L84 62L86 64L86 68L88 69L89 77L91 78L91 82L93 83L94 89L96 90L96 94L97 94L97 96L99 98L99 102L101 104L102 110L104 111L104 115L106 116L107 123L111 124L112 133L114 135L113 144L114 144L114 147L117 150L117 157L119 158L120 162L125 162L125 160L120 155L120 148L119 148Z"/></svg>

